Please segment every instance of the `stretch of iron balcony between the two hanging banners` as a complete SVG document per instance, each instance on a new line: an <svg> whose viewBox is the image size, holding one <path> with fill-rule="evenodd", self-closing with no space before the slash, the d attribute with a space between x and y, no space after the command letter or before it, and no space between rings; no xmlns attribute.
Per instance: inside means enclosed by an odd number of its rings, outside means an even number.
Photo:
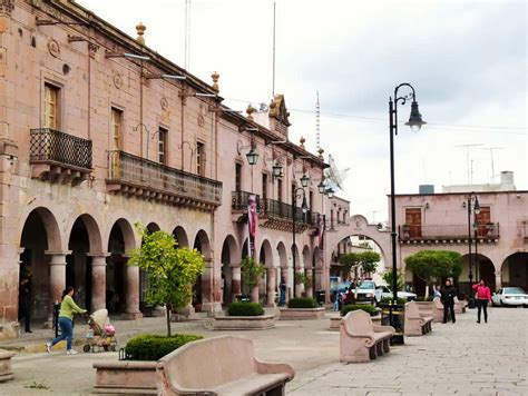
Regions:
<svg viewBox="0 0 528 396"><path fill-rule="evenodd" d="M266 199L260 219L263 220L262 227L291 231L293 228L293 211L292 206L274 199ZM295 210L295 230L303 232L309 228L316 228L319 221L319 214L315 211L303 210L297 207Z"/></svg>

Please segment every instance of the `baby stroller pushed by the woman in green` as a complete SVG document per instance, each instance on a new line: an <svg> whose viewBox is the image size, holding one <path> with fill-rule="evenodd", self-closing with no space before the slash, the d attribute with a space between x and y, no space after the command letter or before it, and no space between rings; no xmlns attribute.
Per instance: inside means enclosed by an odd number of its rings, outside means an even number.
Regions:
<svg viewBox="0 0 528 396"><path fill-rule="evenodd" d="M108 310L98 309L91 314L88 318L88 327L84 352L117 350L116 328L110 325Z"/></svg>

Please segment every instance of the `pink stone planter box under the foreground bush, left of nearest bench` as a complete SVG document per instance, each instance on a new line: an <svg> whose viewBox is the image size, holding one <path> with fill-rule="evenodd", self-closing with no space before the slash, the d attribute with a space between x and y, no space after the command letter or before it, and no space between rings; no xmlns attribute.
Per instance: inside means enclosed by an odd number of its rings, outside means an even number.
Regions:
<svg viewBox="0 0 528 396"><path fill-rule="evenodd" d="M156 395L157 362L119 360L94 363L95 394Z"/></svg>

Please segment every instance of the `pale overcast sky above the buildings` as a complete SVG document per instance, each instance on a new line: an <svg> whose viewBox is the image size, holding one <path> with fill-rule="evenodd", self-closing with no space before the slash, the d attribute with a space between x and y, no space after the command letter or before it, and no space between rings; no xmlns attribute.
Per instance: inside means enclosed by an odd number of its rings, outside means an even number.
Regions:
<svg viewBox="0 0 528 396"><path fill-rule="evenodd" d="M185 0L78 0L148 47L185 65ZM188 70L236 109L272 98L273 0L192 0ZM528 189L527 4L518 1L276 0L275 92L291 111L290 139L321 146L350 168L344 190L353 214L387 219L390 192L388 100L400 82L417 90L429 123L400 125L397 194L421 184L491 182L515 171ZM407 91L400 91L407 93ZM399 107L399 120L410 103ZM467 148L463 145L480 145ZM492 150L490 150L490 148ZM468 177L468 168L472 169ZM499 177L495 177L499 181ZM375 212L374 212L375 211Z"/></svg>

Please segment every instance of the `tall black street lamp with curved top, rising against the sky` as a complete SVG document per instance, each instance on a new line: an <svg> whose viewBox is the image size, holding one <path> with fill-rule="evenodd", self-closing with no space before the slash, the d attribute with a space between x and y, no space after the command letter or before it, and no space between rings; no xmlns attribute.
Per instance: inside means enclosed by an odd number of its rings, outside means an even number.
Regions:
<svg viewBox="0 0 528 396"><path fill-rule="evenodd" d="M408 87L411 89L411 92L405 96L398 96L398 90L401 87ZM390 125L390 159L391 159L391 247L392 247L392 293L393 293L393 304L398 303L398 268L397 268L397 227L395 227L395 198L394 198L394 136L398 135L398 102L401 101L401 105L405 105L408 100L412 99L411 103L411 115L409 121L405 122L411 130L419 131L422 125L427 123L422 120L422 116L418 110L418 102L415 98L414 88L408 83L400 83L394 88L394 101L392 98L389 98L389 125ZM391 315L391 325L394 326L394 316Z"/></svg>

